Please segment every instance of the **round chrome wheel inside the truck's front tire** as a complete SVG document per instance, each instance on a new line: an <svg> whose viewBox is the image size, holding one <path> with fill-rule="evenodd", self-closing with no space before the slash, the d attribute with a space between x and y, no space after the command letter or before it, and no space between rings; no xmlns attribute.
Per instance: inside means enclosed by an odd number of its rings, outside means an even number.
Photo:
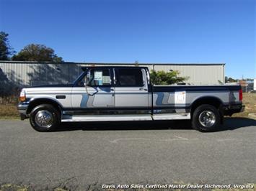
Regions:
<svg viewBox="0 0 256 191"><path fill-rule="evenodd" d="M50 128L53 125L53 114L47 110L38 111L35 115L35 123L37 126Z"/></svg>

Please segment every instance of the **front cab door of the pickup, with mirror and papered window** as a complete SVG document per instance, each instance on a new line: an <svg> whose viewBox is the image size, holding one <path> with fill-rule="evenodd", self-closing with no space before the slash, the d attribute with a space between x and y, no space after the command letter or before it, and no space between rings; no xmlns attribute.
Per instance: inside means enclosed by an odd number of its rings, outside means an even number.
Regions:
<svg viewBox="0 0 256 191"><path fill-rule="evenodd" d="M112 70L109 68L95 67L87 70L87 74L72 90L72 107L98 114L106 108L115 108L111 74Z"/></svg>

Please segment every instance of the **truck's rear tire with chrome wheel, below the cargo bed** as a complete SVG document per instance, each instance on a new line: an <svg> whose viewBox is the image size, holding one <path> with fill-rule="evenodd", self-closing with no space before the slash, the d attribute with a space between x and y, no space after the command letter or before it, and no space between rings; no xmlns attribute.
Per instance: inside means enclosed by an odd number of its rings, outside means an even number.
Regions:
<svg viewBox="0 0 256 191"><path fill-rule="evenodd" d="M192 127L201 132L211 132L219 129L221 115L216 107L203 104L195 108L192 117Z"/></svg>

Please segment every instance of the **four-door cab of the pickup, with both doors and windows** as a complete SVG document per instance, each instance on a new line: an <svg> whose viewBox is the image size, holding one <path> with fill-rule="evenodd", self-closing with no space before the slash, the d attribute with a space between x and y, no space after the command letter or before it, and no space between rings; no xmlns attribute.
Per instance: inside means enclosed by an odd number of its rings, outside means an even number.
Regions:
<svg viewBox="0 0 256 191"><path fill-rule="evenodd" d="M72 107L97 113L104 111L151 111L147 68L88 67L72 89ZM94 112L92 112L94 113Z"/></svg>

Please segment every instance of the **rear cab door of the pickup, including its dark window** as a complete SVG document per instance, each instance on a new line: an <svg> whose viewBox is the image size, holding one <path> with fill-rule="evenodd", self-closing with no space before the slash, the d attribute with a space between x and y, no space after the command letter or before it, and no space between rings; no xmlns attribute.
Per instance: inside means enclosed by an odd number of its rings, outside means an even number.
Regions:
<svg viewBox="0 0 256 191"><path fill-rule="evenodd" d="M119 67L115 75L115 109L123 113L149 113L146 70Z"/></svg>

